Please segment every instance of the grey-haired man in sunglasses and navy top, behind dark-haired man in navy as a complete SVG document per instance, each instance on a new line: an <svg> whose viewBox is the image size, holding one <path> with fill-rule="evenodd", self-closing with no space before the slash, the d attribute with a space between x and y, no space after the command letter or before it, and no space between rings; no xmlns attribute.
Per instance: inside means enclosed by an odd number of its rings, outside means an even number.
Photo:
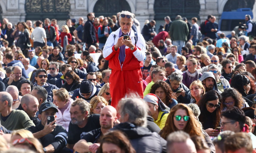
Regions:
<svg viewBox="0 0 256 153"><path fill-rule="evenodd" d="M58 62L50 62L49 65L49 70L50 70L50 74L48 74L48 82L50 84L55 85L56 84L56 80L59 79L62 74L59 73L59 64Z"/></svg>

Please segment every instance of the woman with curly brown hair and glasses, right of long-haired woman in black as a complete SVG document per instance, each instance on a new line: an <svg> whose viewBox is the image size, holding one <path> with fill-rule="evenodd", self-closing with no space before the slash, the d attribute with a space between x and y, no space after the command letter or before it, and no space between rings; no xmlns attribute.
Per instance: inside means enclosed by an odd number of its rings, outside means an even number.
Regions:
<svg viewBox="0 0 256 153"><path fill-rule="evenodd" d="M244 107L249 107L240 94L235 88L226 88L224 92L221 93L223 109L238 107L240 109Z"/></svg>

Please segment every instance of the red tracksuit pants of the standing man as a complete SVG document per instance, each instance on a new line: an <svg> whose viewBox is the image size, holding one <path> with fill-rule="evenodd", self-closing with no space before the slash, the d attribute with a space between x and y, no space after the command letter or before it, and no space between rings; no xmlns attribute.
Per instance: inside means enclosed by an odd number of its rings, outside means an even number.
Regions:
<svg viewBox="0 0 256 153"><path fill-rule="evenodd" d="M117 107L118 102L125 95L138 93L143 98L143 81L141 69L116 71L111 70L110 94L112 97L111 106Z"/></svg>

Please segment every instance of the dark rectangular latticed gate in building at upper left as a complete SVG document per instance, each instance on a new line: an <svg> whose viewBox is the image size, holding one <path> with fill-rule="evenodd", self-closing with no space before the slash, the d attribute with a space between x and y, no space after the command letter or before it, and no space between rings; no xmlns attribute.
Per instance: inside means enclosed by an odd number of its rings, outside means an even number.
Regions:
<svg viewBox="0 0 256 153"><path fill-rule="evenodd" d="M69 18L69 0L26 0L26 20L57 19L59 25L64 25Z"/></svg>

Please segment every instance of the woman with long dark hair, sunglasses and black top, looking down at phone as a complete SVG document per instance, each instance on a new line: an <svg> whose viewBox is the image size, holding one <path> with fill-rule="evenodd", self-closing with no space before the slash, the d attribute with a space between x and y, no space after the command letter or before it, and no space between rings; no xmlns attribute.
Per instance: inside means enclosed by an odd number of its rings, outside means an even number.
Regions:
<svg viewBox="0 0 256 153"><path fill-rule="evenodd" d="M214 130L220 127L220 114L222 110L222 98L216 90L210 90L202 96L197 103L201 114L199 121L209 136L217 136L220 132Z"/></svg>

